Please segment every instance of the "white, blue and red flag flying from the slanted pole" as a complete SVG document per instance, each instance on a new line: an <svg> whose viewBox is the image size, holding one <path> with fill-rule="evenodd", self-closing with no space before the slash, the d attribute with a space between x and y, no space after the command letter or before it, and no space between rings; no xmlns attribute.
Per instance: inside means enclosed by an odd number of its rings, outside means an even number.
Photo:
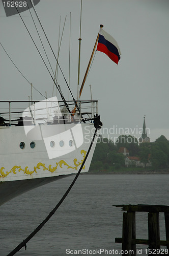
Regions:
<svg viewBox="0 0 169 256"><path fill-rule="evenodd" d="M121 55L118 43L102 28L100 28L99 40L96 50L104 52L112 61L118 64Z"/></svg>

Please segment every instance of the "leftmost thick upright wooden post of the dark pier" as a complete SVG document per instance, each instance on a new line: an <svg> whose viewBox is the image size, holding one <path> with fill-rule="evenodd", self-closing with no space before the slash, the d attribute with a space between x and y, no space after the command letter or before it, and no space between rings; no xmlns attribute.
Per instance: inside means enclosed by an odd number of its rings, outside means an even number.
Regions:
<svg viewBox="0 0 169 256"><path fill-rule="evenodd" d="M128 253L127 254L125 253L125 255L131 255L132 223L133 223L133 212L123 212L122 250L128 251Z"/></svg>

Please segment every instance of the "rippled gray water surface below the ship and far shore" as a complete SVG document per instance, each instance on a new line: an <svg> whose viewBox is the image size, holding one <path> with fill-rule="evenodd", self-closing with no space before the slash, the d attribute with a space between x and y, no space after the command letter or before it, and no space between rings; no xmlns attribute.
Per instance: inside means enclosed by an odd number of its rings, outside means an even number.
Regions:
<svg viewBox="0 0 169 256"><path fill-rule="evenodd" d="M45 219L73 178L44 185L1 206L1 256L12 251ZM15 255L83 255L68 252L70 249L95 252L100 248L120 252L121 244L115 243L115 238L122 237L123 211L113 205L169 205L168 180L169 175L159 174L80 175L54 216L27 243L27 250L22 248ZM148 238L146 213L136 214L136 238ZM163 214L160 214L160 239L165 240ZM137 245L143 249L142 255L146 255L147 247ZM94 253L88 251L86 255Z"/></svg>

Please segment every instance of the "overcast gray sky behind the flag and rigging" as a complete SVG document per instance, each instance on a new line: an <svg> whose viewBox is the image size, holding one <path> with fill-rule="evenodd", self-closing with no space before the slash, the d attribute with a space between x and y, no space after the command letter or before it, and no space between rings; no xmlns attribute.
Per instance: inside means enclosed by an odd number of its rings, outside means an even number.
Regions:
<svg viewBox="0 0 169 256"><path fill-rule="evenodd" d="M80 0L41 0L36 11L51 43L58 53L59 20L61 29L67 15L59 56L60 66L68 80L69 23L71 12L70 87L77 96L77 66ZM53 82L38 55L19 15L6 17L0 2L1 42L25 77L42 93L51 97ZM34 14L34 12L32 11ZM32 35L42 48L29 11L21 13ZM35 15L34 15L35 17ZM83 0L81 27L80 83L85 74L100 24L112 35L122 52L118 66L104 53L96 52L81 99L99 100L103 136L116 140L120 134L140 137L143 117L151 142L160 135L169 139L169 2L168 0ZM40 30L45 42L45 37ZM55 61L45 43L52 67ZM42 51L43 52L43 51ZM27 100L30 84L19 74L0 46L0 100ZM44 56L44 54L43 54ZM65 82L59 73L59 84L68 98ZM34 100L41 95L33 91ZM119 131L120 129L120 131ZM133 133L135 130L136 133ZM117 132L117 134L116 134Z"/></svg>

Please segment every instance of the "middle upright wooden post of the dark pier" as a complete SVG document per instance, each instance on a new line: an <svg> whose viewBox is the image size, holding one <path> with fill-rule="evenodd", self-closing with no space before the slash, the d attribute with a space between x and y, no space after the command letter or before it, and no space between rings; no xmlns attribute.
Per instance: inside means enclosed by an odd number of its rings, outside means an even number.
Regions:
<svg viewBox="0 0 169 256"><path fill-rule="evenodd" d="M160 249L159 212L148 213L149 249ZM152 253L152 251L151 251Z"/></svg>

